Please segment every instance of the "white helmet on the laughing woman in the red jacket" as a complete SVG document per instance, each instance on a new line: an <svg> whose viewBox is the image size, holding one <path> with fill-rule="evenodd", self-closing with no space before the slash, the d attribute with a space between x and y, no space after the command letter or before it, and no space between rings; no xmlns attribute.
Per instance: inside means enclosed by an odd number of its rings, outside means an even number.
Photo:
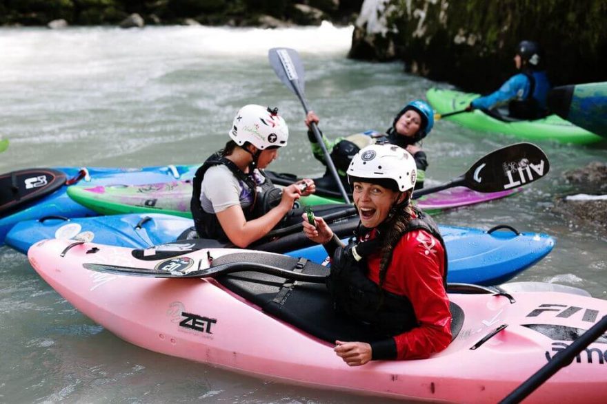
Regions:
<svg viewBox="0 0 607 404"><path fill-rule="evenodd" d="M408 151L390 144L370 145L361 149L348 167L348 182L361 180L389 187L401 192L415 187L417 166ZM388 180L388 181L386 181ZM385 185L384 185L385 186Z"/></svg>

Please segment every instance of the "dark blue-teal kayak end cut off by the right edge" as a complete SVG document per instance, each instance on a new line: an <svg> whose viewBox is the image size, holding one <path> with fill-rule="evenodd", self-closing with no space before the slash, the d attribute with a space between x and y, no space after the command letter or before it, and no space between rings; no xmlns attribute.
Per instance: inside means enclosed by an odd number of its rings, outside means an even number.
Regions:
<svg viewBox="0 0 607 404"><path fill-rule="evenodd" d="M607 138L607 81L555 87L548 94L548 107L561 118Z"/></svg>

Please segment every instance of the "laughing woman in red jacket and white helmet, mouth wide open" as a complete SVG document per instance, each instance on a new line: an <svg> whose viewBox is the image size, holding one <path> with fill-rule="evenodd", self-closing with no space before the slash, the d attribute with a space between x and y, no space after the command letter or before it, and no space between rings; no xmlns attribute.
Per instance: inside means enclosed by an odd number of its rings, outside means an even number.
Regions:
<svg viewBox="0 0 607 404"><path fill-rule="evenodd" d="M344 246L321 217L304 233L332 257L327 286L335 306L377 332L375 341L336 341L350 366L375 359L422 359L451 341L447 257L432 219L411 204L417 169L395 145L371 145L348 168L359 211Z"/></svg>

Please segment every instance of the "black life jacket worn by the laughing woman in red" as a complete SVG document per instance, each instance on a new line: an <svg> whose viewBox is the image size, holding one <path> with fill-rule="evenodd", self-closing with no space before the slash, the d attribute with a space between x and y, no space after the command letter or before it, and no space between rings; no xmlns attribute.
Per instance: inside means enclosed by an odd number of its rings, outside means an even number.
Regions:
<svg viewBox="0 0 607 404"><path fill-rule="evenodd" d="M439 240L445 252L443 282L446 286L447 250L443 237L430 216L417 209L415 213L417 218L410 220L404 234L422 229ZM378 228L378 231L381 230ZM327 287L337 310L369 323L386 337L392 337L416 328L419 323L408 297L388 292L367 277L366 257L371 253L377 253L379 248L381 248L380 237L366 242L357 242L352 238L348 246L337 248L327 278Z"/></svg>

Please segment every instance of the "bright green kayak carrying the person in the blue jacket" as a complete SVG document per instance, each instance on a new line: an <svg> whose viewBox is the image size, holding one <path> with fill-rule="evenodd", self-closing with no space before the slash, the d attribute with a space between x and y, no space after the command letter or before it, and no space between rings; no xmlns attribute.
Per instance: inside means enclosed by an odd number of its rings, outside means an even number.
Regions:
<svg viewBox="0 0 607 404"><path fill-rule="evenodd" d="M470 101L478 94L458 92L449 89L429 89L426 98L439 114L460 111L470 105ZM603 140L586 129L577 127L556 115L550 115L538 120L500 120L475 110L445 118L459 123L464 127L479 131L498 132L528 140L557 140L563 143L585 145Z"/></svg>

